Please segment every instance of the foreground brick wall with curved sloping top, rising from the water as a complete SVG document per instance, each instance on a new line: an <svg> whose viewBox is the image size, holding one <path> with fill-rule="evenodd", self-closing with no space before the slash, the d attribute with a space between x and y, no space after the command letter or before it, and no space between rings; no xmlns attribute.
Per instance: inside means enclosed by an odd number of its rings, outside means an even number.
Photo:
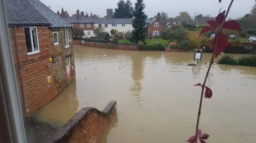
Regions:
<svg viewBox="0 0 256 143"><path fill-rule="evenodd" d="M111 101L102 112L83 108L43 143L98 143L114 116L116 101Z"/></svg>

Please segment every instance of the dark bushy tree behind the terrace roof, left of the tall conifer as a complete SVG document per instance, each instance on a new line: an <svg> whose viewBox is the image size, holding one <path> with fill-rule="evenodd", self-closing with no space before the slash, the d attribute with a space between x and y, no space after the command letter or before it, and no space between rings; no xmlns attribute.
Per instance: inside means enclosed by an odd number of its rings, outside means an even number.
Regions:
<svg viewBox="0 0 256 143"><path fill-rule="evenodd" d="M119 0L113 18L132 18L133 8L130 0Z"/></svg>

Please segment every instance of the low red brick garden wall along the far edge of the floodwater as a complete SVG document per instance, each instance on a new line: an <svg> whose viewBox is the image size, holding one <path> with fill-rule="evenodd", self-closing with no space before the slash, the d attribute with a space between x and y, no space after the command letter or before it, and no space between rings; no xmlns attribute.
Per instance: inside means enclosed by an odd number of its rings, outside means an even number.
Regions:
<svg viewBox="0 0 256 143"><path fill-rule="evenodd" d="M92 42L82 42L78 40L73 40L75 45L82 45L88 47L97 47L97 48L105 48L105 49L118 49L118 50L138 50L137 45L118 45L118 44L104 44L104 43L92 43Z"/></svg>

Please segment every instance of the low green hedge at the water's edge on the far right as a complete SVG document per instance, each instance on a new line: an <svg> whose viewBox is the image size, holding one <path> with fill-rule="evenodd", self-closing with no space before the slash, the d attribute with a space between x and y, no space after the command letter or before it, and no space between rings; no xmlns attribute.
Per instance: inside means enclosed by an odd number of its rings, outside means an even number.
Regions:
<svg viewBox="0 0 256 143"><path fill-rule="evenodd" d="M238 59L225 55L221 57L218 64L256 67L256 55L242 56Z"/></svg>

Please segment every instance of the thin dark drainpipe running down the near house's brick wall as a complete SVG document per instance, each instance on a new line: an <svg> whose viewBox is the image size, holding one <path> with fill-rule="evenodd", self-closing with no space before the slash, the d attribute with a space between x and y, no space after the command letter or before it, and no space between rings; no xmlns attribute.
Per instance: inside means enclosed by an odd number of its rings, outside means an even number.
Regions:
<svg viewBox="0 0 256 143"><path fill-rule="evenodd" d="M24 96L24 86L22 83L22 77L21 77L21 71L20 71L20 58L19 58L19 54L18 54L18 47L17 47L17 37L16 37L16 31L15 31L15 27L12 28L12 34L14 37L14 49L15 49L15 55L16 55L16 59L17 59L17 63L18 63L18 78L20 80L20 88L21 88L21 97L22 97L22 112L23 115L26 115L26 106L25 106L25 96ZM17 79L18 80L18 79ZM25 117L25 116L23 116Z"/></svg>

